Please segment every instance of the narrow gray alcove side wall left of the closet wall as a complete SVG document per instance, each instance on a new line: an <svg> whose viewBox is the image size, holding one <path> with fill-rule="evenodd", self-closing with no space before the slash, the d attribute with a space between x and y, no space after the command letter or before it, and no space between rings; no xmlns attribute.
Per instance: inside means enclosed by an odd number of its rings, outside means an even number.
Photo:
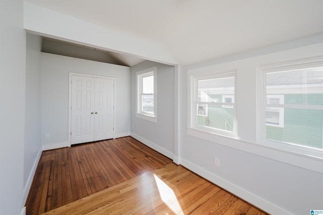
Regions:
<svg viewBox="0 0 323 215"><path fill-rule="evenodd" d="M24 195L27 198L41 154L40 141L40 49L41 37L27 33Z"/></svg>

